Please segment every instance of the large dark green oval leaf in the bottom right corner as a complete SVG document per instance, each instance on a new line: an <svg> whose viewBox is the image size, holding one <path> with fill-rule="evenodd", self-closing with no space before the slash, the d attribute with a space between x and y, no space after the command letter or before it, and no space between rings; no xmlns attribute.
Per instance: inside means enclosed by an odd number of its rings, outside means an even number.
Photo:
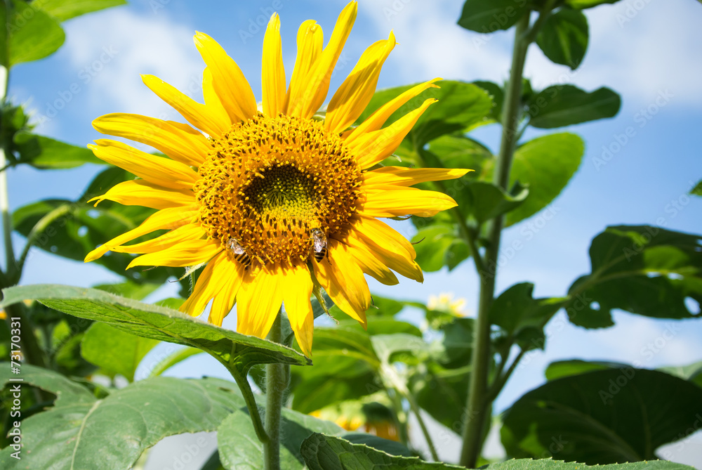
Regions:
<svg viewBox="0 0 702 470"><path fill-rule="evenodd" d="M505 412L512 457L609 464L656 459L702 413L702 388L654 370L624 367L550 381Z"/></svg>

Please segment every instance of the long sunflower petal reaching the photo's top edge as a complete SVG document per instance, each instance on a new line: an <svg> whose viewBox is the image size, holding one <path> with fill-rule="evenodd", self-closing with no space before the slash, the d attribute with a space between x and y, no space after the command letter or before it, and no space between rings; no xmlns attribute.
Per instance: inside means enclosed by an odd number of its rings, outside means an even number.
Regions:
<svg viewBox="0 0 702 470"><path fill-rule="evenodd" d="M291 96L288 115L308 119L324 103L326 93L329 91L331 73L346 43L346 39L349 37L353 23L356 20L357 11L358 4L355 1L352 1L341 11L336 21L336 26L334 26L334 30L331 33L329 44L326 45L319 58L314 61L310 72L305 77L305 91L294 97L295 99Z"/></svg>

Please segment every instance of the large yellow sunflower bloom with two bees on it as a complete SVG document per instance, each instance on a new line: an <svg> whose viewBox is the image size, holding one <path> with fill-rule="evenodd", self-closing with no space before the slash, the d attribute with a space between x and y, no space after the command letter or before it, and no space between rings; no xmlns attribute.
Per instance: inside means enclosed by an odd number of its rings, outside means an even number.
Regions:
<svg viewBox="0 0 702 470"><path fill-rule="evenodd" d="M371 294L364 273L385 285L398 282L392 270L422 282L412 244L378 218L432 216L454 207L451 197L411 185L458 178L467 170L379 165L435 99L383 128L385 121L438 79L414 86L352 126L395 47L392 33L364 51L324 117L315 116L356 13L356 2L343 9L324 48L322 28L303 22L287 88L280 21L272 15L263 39L260 108L234 60L198 32L194 42L206 64L204 104L143 76L190 124L124 113L95 119L100 133L150 145L166 157L107 139L88 145L98 158L138 176L93 198L95 204L110 200L157 211L86 261L112 251L141 255L128 268L206 265L181 311L200 315L212 300L208 320L222 325L236 303L237 331L265 337L284 304L307 355L313 291L326 290L365 327ZM125 245L164 229L153 240Z"/></svg>

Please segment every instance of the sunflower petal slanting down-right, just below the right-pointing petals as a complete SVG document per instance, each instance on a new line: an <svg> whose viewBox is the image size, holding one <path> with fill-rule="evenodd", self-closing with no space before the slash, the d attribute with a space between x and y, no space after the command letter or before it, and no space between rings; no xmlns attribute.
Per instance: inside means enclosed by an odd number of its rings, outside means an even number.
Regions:
<svg viewBox="0 0 702 470"><path fill-rule="evenodd" d="M414 247L409 240L388 224L376 218L357 216L352 221L352 232L349 237L356 237L366 244L371 252L385 263L385 266L396 273L405 278L424 282L422 269L414 261L417 256Z"/></svg>

